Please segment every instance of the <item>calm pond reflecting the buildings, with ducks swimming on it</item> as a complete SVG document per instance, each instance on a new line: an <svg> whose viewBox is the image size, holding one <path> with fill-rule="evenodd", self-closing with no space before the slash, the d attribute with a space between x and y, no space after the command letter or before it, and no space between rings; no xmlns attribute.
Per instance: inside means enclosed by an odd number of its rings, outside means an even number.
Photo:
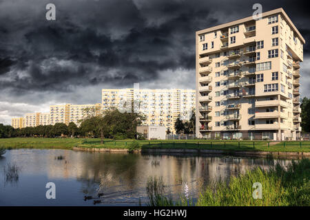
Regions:
<svg viewBox="0 0 310 220"><path fill-rule="evenodd" d="M214 155L145 155L70 150L19 149L0 157L0 206L139 206L148 201L149 177L162 177L177 198L188 188L195 199L206 184L261 166L286 166L289 159ZM17 176L8 176L8 168ZM56 199L47 199L48 182ZM85 196L92 196L87 199Z"/></svg>

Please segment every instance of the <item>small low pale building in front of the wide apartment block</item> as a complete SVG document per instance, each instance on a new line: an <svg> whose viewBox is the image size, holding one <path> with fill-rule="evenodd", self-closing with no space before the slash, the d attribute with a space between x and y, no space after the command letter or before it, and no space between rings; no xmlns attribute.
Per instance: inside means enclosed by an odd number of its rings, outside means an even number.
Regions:
<svg viewBox="0 0 310 220"><path fill-rule="evenodd" d="M137 126L136 132L143 135L146 140L165 140L165 126Z"/></svg>

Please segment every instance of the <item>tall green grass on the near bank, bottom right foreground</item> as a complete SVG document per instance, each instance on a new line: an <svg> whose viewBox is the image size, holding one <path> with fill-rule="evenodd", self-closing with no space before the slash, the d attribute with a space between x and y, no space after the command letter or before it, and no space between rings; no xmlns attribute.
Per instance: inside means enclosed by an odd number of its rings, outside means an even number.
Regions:
<svg viewBox="0 0 310 220"><path fill-rule="evenodd" d="M269 170L249 170L231 177L229 184L221 181L207 186L198 201L192 203L181 196L178 201L165 195L161 179L149 179L147 192L150 206L310 206L310 161L292 162L287 170L276 164ZM262 184L262 199L254 199L255 182Z"/></svg>

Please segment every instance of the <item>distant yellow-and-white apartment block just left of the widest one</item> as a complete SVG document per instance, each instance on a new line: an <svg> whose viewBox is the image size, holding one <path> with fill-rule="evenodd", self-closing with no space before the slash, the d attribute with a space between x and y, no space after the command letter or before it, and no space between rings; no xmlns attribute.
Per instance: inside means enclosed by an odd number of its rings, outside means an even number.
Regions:
<svg viewBox="0 0 310 220"><path fill-rule="evenodd" d="M101 103L97 104L60 104L50 106L50 124L69 124L74 122L79 126L80 120L87 116L85 109L91 109L90 113L99 115L101 113Z"/></svg>

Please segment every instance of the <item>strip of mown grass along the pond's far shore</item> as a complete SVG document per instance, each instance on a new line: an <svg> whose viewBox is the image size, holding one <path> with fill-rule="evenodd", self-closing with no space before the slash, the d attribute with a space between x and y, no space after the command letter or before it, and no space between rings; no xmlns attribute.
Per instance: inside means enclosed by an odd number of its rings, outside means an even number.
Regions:
<svg viewBox="0 0 310 220"><path fill-rule="evenodd" d="M39 138L17 137L0 139L0 147L4 148L63 148L72 146L86 148L130 148L133 140L104 140L99 138ZM279 151L279 152L310 152L310 142L279 142L269 141L235 141L235 140L138 140L138 148L189 148L216 149L229 151Z"/></svg>

